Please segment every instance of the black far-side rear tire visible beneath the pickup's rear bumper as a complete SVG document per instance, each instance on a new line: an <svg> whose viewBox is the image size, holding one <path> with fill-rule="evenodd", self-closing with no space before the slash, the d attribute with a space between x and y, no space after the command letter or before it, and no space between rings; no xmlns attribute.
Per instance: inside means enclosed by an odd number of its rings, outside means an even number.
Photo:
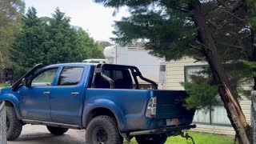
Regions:
<svg viewBox="0 0 256 144"><path fill-rule="evenodd" d="M167 140L166 134L139 135L135 138L138 144L164 144Z"/></svg>

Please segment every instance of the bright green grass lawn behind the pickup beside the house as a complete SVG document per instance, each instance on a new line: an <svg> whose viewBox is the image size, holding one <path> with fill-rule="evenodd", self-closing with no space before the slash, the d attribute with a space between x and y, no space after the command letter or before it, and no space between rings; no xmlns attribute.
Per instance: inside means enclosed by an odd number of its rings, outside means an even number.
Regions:
<svg viewBox="0 0 256 144"><path fill-rule="evenodd" d="M202 134L202 133L189 133L194 138L195 144L231 144L234 143L234 138L229 136L217 135L217 134ZM128 143L128 142L125 142ZM170 137L167 139L166 144L192 144L191 140L186 140L180 136ZM130 144L137 144L135 139L132 139Z"/></svg>

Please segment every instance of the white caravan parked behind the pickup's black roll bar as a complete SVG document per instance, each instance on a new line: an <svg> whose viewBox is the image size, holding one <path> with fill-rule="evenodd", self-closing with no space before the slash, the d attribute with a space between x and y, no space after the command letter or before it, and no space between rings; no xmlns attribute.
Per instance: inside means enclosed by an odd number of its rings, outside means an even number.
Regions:
<svg viewBox="0 0 256 144"><path fill-rule="evenodd" d="M159 89L164 88L165 62L149 54L149 50L138 46L108 46L104 50L104 55L106 63L137 66L143 76L157 82ZM149 86L144 81L140 81L140 83L145 88Z"/></svg>

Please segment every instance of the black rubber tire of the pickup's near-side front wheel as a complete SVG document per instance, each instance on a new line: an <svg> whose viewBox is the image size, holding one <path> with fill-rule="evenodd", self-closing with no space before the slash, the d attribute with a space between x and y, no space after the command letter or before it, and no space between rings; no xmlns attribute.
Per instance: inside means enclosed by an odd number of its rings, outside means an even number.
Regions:
<svg viewBox="0 0 256 144"><path fill-rule="evenodd" d="M10 127L6 131L7 141L14 141L22 133L22 121L18 120L16 111L12 106L6 106L6 118L10 122Z"/></svg>

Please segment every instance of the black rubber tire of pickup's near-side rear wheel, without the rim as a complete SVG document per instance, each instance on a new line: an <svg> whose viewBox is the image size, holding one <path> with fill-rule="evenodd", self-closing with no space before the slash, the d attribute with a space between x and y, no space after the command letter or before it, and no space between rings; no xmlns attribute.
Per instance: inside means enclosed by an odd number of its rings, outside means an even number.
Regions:
<svg viewBox="0 0 256 144"><path fill-rule="evenodd" d="M93 118L86 128L86 144L98 144L93 142L93 132L97 127L102 127L108 134L106 144L122 144L123 138L118 132L118 125L114 118L100 115Z"/></svg>

